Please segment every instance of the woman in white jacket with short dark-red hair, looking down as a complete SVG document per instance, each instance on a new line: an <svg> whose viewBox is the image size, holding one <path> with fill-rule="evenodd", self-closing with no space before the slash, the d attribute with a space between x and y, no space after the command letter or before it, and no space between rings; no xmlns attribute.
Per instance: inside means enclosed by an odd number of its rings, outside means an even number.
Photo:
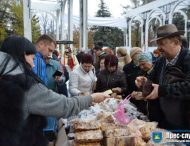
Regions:
<svg viewBox="0 0 190 146"><path fill-rule="evenodd" d="M90 95L95 89L96 81L92 55L85 53L81 57L80 65L70 74L69 91L72 96Z"/></svg>

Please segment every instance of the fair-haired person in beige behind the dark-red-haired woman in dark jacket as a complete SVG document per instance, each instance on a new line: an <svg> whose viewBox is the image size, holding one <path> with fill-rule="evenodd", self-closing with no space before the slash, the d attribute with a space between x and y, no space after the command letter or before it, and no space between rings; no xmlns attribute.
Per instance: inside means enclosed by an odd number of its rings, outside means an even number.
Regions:
<svg viewBox="0 0 190 146"><path fill-rule="evenodd" d="M125 48L118 48L116 53L119 60L118 69L120 71L123 71L124 65L131 62L131 57L129 56Z"/></svg>

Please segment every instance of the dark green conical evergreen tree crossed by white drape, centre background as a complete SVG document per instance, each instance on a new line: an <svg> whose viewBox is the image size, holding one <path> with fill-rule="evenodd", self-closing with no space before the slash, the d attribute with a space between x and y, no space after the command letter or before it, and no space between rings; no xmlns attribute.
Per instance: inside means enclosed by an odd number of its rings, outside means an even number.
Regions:
<svg viewBox="0 0 190 146"><path fill-rule="evenodd" d="M111 17L111 13L108 11L108 7L103 0L100 1L96 17ZM123 46L124 44L123 32L119 28L93 26L91 30L95 31L93 37L94 44L102 42L103 46L108 46L112 49L115 49L116 46Z"/></svg>

